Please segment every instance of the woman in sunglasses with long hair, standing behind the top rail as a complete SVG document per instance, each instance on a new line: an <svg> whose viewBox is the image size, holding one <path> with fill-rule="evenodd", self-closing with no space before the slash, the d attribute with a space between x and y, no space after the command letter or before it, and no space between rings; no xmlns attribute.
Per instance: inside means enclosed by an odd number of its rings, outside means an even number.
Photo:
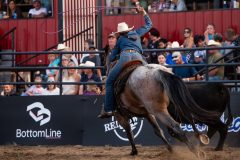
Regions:
<svg viewBox="0 0 240 160"><path fill-rule="evenodd" d="M182 44L183 48L193 48L194 46L194 38L193 38L193 32L190 28L184 29L184 42ZM194 59L194 55L192 51L185 51L182 53L184 56L186 56L187 63L191 63Z"/></svg>

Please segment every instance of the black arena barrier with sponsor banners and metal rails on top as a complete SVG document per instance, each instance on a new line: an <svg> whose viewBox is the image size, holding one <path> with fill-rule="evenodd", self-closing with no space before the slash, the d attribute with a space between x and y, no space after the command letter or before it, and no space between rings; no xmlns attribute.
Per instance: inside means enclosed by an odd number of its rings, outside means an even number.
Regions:
<svg viewBox="0 0 240 160"><path fill-rule="evenodd" d="M221 48L192 48L192 49L153 49L144 50L145 52L172 52L172 51L195 51L195 50L212 50L212 49L240 49L240 47L221 47ZM56 84L60 88L59 96L11 96L0 97L0 145L19 144L19 145L129 145L124 129L112 117L110 119L100 120L97 115L101 111L104 103L104 95L62 95L62 85L86 85L99 83L82 83L82 82L62 82L63 69L103 69L100 67L63 67L61 66L63 54L103 54L103 51L89 52L2 52L3 55L11 55L14 59L17 55L45 55L59 54L60 66L19 66L13 64L6 67L1 66L0 72L14 72L18 75L20 71L36 71L46 69L59 70L60 76L58 82L41 82L38 84ZM207 54L208 55L208 54ZM228 55L224 55L226 57ZM207 56L208 57L208 56ZM236 58L239 58L240 54ZM222 59L223 59L222 58ZM214 66L240 66L239 62L231 59L225 63L215 64L184 64L184 65L168 65L167 67L195 67L204 66L206 80L192 81L186 83L224 83L229 87L231 95L231 109L233 114L233 122L228 129L228 137L226 144L228 146L240 147L240 80L237 78L239 73L234 73L234 80L208 80L208 68ZM218 61L220 61L219 59ZM211 70L211 69L210 69ZM11 84L33 85L34 82L0 82L0 85ZM227 113L223 114L221 120L226 122ZM131 120L131 128L137 144L141 145L160 145L163 142L154 134L150 124L143 118L133 117ZM181 124L181 128L193 133L191 125ZM197 124L197 128L201 132L207 131L207 126ZM164 129L166 131L166 129ZM167 132L165 132L167 133ZM170 135L166 135L170 139ZM211 145L216 145L218 135L211 139ZM176 141L171 138L171 143ZM177 142L176 142L177 143Z"/></svg>

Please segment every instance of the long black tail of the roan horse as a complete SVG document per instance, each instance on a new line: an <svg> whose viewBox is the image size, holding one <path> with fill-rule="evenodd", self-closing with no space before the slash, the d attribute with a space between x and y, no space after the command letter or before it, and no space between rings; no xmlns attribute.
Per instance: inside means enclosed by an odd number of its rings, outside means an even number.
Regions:
<svg viewBox="0 0 240 160"><path fill-rule="evenodd" d="M176 115L180 120L184 117L191 124L195 121L214 123L214 121L218 120L219 113L199 107L179 77L162 70L159 70L158 73L155 78L162 83L171 103L175 106Z"/></svg>

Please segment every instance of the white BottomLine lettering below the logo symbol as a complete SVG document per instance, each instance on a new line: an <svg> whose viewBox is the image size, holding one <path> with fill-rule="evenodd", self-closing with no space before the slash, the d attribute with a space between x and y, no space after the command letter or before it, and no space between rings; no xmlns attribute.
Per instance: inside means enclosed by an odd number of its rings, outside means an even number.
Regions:
<svg viewBox="0 0 240 160"><path fill-rule="evenodd" d="M46 139L60 139L62 132L60 130L16 130L16 138L46 138Z"/></svg>

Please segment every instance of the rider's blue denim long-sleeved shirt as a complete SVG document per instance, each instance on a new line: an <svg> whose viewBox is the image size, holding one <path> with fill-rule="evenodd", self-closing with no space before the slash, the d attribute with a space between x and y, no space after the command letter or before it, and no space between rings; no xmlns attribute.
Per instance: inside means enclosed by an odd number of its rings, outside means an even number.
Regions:
<svg viewBox="0 0 240 160"><path fill-rule="evenodd" d="M150 17L146 14L144 15L145 25L128 32L127 36L120 36L117 40L117 44L109 57L111 62L115 61L117 55L124 50L134 49L139 53L143 52L141 45L141 36L147 33L152 28L152 21ZM134 40L133 40L134 39Z"/></svg>

